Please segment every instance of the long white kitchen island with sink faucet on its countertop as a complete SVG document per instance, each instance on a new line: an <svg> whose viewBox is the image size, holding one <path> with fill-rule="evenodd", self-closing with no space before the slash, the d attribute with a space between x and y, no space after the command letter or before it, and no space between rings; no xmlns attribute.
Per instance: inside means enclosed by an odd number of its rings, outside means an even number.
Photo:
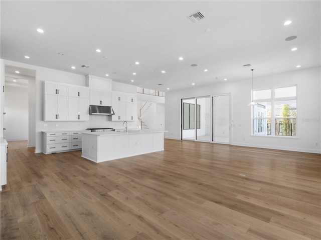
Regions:
<svg viewBox="0 0 321 240"><path fill-rule="evenodd" d="M83 132L81 156L94 162L164 150L163 130Z"/></svg>

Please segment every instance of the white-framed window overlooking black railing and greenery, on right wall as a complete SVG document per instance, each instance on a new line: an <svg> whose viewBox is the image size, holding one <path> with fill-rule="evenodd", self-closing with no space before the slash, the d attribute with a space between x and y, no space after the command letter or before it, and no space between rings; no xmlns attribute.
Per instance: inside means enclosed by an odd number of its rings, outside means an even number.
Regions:
<svg viewBox="0 0 321 240"><path fill-rule="evenodd" d="M296 86L253 91L254 135L296 135Z"/></svg>

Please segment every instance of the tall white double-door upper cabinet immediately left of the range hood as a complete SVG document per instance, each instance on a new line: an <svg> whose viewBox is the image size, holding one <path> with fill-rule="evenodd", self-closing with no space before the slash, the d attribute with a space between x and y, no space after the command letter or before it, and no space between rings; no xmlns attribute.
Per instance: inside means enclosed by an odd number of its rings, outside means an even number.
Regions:
<svg viewBox="0 0 321 240"><path fill-rule="evenodd" d="M68 97L68 120L89 120L89 98Z"/></svg>

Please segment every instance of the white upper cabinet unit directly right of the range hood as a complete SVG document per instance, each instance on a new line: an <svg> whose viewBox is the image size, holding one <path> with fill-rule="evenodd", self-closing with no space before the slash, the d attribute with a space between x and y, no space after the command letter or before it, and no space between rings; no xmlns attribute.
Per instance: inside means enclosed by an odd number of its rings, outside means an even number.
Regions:
<svg viewBox="0 0 321 240"><path fill-rule="evenodd" d="M112 92L112 121L137 121L137 94Z"/></svg>

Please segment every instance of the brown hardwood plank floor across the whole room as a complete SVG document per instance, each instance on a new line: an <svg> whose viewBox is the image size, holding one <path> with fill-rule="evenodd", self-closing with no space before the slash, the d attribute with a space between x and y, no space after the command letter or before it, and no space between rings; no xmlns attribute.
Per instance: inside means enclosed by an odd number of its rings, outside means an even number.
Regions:
<svg viewBox="0 0 321 240"><path fill-rule="evenodd" d="M321 155L165 139L102 163L9 142L1 239L321 239Z"/></svg>

